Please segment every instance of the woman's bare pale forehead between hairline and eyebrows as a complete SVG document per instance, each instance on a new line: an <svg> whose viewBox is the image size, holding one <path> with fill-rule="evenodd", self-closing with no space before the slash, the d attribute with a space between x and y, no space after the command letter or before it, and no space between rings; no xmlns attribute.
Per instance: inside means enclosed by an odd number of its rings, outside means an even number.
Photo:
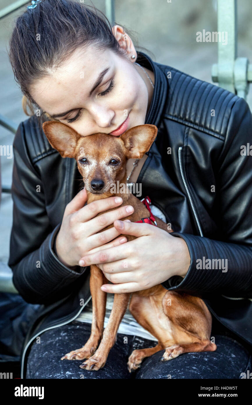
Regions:
<svg viewBox="0 0 252 405"><path fill-rule="evenodd" d="M32 84L31 95L49 114L76 108L89 96L100 72L114 66L114 58L110 49L101 51L94 45L77 48L57 70L48 70L46 76Z"/></svg>

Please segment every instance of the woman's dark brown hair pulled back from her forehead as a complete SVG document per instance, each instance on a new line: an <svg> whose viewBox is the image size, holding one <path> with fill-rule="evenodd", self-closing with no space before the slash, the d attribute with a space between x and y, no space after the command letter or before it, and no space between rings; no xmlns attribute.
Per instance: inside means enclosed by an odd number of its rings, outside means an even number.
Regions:
<svg viewBox="0 0 252 405"><path fill-rule="evenodd" d="M94 6L72 0L43 0L17 18L8 56L15 81L23 93L23 111L31 116L35 109L40 110L40 126L50 120L50 115L32 98L32 84L61 66L76 48L90 44L127 58L112 33L110 21Z"/></svg>

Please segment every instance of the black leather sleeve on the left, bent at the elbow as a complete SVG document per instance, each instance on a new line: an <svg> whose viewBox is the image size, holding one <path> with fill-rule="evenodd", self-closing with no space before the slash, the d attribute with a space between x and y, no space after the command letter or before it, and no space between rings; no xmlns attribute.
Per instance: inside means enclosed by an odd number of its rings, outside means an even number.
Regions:
<svg viewBox="0 0 252 405"><path fill-rule="evenodd" d="M53 244L61 224L54 229L45 209L44 193L37 192L41 179L32 165L23 123L13 142L13 226L8 266L13 283L23 299L32 304L50 304L69 295L69 286L88 269L72 269L59 261Z"/></svg>

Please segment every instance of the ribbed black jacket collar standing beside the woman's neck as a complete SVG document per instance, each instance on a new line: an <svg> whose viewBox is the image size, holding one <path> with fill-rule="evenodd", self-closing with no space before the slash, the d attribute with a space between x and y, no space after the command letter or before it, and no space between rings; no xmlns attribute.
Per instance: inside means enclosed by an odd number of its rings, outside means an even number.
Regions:
<svg viewBox="0 0 252 405"><path fill-rule="evenodd" d="M152 59L148 55L146 55L146 53L138 51L137 54L137 62L143 68L152 70L155 75L155 85L152 100L144 124L152 124L159 128L159 124L167 100L167 78L165 76L165 73L159 67L159 64L157 62L153 62Z"/></svg>

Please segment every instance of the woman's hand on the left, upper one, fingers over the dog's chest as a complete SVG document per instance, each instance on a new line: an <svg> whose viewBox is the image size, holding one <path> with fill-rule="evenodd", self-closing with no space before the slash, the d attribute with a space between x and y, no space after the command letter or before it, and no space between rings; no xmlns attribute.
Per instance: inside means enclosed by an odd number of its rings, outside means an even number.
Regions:
<svg viewBox="0 0 252 405"><path fill-rule="evenodd" d="M133 207L126 205L95 217L100 212L121 205L122 198L103 198L84 207L86 201L87 191L83 189L66 205L61 227L56 237L57 257L69 267L77 266L80 258L87 254L127 242L125 237L118 237L121 231L114 227L100 233L97 232L113 224L117 219L128 217L133 213ZM114 239L116 237L118 238Z"/></svg>

